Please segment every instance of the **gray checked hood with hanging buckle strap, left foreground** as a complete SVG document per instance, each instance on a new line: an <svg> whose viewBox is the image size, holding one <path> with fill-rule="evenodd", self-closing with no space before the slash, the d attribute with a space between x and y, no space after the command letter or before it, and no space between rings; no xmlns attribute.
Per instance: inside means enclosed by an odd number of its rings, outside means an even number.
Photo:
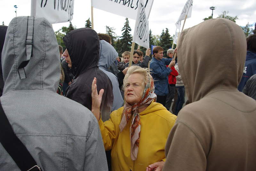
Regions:
<svg viewBox="0 0 256 171"><path fill-rule="evenodd" d="M13 90L57 92L60 53L51 24L43 17L21 16L10 22L2 52L4 93Z"/></svg>

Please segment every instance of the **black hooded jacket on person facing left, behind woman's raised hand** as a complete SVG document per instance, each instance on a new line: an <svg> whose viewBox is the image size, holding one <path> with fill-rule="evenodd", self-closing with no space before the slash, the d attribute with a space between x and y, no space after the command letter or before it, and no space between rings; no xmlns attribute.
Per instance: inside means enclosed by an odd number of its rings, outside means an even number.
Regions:
<svg viewBox="0 0 256 171"><path fill-rule="evenodd" d="M98 93L104 89L100 112L103 121L108 120L113 104L112 84L108 76L99 69L100 39L90 28L73 30L63 37L72 63L71 72L75 80L69 85L65 96L92 109L92 80L97 78Z"/></svg>

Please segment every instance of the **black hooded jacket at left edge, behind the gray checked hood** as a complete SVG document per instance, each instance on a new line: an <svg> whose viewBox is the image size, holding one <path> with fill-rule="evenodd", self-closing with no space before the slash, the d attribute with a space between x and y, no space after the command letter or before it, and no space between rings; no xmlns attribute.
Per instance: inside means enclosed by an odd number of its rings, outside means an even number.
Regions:
<svg viewBox="0 0 256 171"><path fill-rule="evenodd" d="M3 89L4 89L4 79L3 79L1 59L2 59L2 50L4 46L6 31L7 31L7 26L0 26L0 96L2 96Z"/></svg>

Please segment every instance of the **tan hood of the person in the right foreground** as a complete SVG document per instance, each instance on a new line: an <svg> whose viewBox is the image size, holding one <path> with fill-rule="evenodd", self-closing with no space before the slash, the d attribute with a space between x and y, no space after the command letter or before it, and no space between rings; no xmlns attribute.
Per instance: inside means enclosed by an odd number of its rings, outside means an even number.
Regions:
<svg viewBox="0 0 256 171"><path fill-rule="evenodd" d="M246 57L244 32L228 19L209 19L181 32L178 56L190 102L213 91L237 90Z"/></svg>

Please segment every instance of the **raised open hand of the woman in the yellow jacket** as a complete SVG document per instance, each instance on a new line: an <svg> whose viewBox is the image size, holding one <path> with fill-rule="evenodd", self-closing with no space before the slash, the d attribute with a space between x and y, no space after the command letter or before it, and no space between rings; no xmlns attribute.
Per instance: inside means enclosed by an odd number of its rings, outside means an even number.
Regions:
<svg viewBox="0 0 256 171"><path fill-rule="evenodd" d="M99 122L100 121L100 104L101 104L104 90L101 89L98 94L96 83L97 83L97 79L94 77L92 81L92 110L91 111Z"/></svg>

